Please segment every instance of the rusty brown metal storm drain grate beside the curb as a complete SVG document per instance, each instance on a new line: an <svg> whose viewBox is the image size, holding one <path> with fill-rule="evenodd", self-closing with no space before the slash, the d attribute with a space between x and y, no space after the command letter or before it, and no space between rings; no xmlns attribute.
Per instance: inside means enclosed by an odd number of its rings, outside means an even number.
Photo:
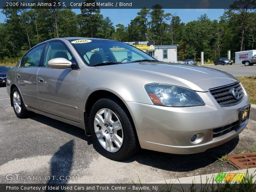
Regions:
<svg viewBox="0 0 256 192"><path fill-rule="evenodd" d="M256 168L256 152L228 155L227 158L238 169Z"/></svg>

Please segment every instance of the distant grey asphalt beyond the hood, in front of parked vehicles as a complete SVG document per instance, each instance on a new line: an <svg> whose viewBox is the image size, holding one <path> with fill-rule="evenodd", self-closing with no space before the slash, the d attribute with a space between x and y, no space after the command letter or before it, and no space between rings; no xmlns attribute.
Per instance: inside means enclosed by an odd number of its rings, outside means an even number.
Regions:
<svg viewBox="0 0 256 192"><path fill-rule="evenodd" d="M248 76L256 75L256 64L253 66L244 66L244 64L233 64L233 65L205 65L206 67L222 70L232 74L233 76Z"/></svg>

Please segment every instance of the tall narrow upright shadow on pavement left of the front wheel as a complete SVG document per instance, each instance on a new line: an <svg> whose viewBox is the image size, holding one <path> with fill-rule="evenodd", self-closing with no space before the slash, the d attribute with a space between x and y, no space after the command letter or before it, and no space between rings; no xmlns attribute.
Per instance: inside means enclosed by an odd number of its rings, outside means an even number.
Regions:
<svg viewBox="0 0 256 192"><path fill-rule="evenodd" d="M62 145L59 150L52 156L50 162L51 177L47 184L66 184L70 177L70 171L73 164L74 157L74 140ZM54 176L54 177L53 177ZM52 190L46 190L50 192ZM59 190L65 191L65 190Z"/></svg>

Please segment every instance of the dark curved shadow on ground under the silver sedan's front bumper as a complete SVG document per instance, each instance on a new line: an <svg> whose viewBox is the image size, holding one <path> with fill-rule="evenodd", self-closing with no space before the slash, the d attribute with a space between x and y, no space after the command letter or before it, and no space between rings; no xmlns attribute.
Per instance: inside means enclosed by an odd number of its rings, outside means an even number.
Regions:
<svg viewBox="0 0 256 192"><path fill-rule="evenodd" d="M208 166L225 154L234 150L239 142L239 136L222 144L197 154L168 154L151 150L140 150L138 154L124 162L137 161L140 164L174 172L188 172Z"/></svg>

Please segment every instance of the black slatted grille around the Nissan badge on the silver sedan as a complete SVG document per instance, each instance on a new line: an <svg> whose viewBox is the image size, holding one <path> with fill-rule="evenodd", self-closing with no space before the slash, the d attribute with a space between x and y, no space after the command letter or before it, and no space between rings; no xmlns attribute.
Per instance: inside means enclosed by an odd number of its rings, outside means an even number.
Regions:
<svg viewBox="0 0 256 192"><path fill-rule="evenodd" d="M238 91L239 97L236 99L232 94L232 89L235 88ZM232 106L240 103L244 98L244 90L240 82L234 84L209 89L212 96L222 107Z"/></svg>

